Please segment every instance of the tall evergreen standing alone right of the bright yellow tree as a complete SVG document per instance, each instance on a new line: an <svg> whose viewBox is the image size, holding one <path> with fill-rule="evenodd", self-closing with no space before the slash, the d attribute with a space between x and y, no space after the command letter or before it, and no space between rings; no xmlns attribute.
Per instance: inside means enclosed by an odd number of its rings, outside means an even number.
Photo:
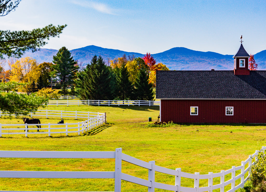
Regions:
<svg viewBox="0 0 266 192"><path fill-rule="evenodd" d="M79 69L77 62L71 57L71 53L65 47L62 47L57 52L56 56L53 56L53 69L56 71L56 75L60 80L61 89L64 95L67 92L67 86L74 83L74 79L77 78L77 71Z"/></svg>

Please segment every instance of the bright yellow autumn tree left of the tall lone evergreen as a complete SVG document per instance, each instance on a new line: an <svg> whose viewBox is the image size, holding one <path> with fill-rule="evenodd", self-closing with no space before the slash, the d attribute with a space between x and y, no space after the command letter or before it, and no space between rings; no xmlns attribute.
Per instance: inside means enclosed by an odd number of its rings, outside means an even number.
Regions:
<svg viewBox="0 0 266 192"><path fill-rule="evenodd" d="M19 83L28 83L24 91L30 93L30 83L37 82L40 76L40 69L35 59L25 57L17 60L15 63L8 62L11 75L10 80Z"/></svg>

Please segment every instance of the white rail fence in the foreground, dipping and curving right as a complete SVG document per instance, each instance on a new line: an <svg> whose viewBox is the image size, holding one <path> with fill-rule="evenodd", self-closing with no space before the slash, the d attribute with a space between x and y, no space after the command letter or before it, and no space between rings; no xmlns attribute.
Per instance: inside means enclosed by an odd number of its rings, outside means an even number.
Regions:
<svg viewBox="0 0 266 192"><path fill-rule="evenodd" d="M265 150L266 147L262 147L261 150ZM209 174L200 173L186 173L182 172L181 168L176 170L167 169L155 165L155 161L149 161L149 163L136 159L122 153L121 148L117 148L115 152L84 152L84 151L0 151L0 157L11 157L11 158L113 158L115 159L115 171L110 172L74 172L74 171L0 171L0 178L114 178L114 191L121 191L121 180L132 182L138 185L146 186L148 192L154 192L155 188L164 189L176 192L203 192L213 191L220 189L221 192L225 191L225 186L231 185L231 189L227 192L233 192L240 187L244 186L244 183L250 176L250 169L252 158L258 154L256 151L253 155L250 155L246 161L242 161L238 167L232 166L231 169L222 170L220 173L209 172ZM148 180L134 177L121 172L122 160L134 165L148 169ZM245 169L245 165L248 167ZM241 170L241 173L236 175L236 171ZM155 172L161 172L175 176L175 184L168 185L159 182L155 182ZM245 178L245 174L248 172L248 176ZM231 174L231 179L225 181L225 176ZM194 188L182 187L181 177L194 179ZM220 184L213 185L213 179L220 177ZM208 179L208 186L199 187L200 180ZM235 186L237 180L241 180L240 184Z"/></svg>

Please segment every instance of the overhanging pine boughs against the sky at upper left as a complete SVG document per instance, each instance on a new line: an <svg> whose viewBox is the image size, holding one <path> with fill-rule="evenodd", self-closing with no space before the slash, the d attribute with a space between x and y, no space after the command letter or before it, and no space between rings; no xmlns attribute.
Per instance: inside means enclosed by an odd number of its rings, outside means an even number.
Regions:
<svg viewBox="0 0 266 192"><path fill-rule="evenodd" d="M20 0L0 1L0 16L5 16L14 11ZM0 30L0 58L21 57L25 51L35 52L40 47L47 44L50 37L59 37L66 25L57 27L50 24L44 28L33 29L31 31L1 31Z"/></svg>

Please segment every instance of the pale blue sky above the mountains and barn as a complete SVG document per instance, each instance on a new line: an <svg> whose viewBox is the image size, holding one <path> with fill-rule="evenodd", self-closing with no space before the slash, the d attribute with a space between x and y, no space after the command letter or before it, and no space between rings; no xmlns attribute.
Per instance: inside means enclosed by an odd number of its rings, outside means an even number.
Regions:
<svg viewBox="0 0 266 192"><path fill-rule="evenodd" d="M151 54L174 47L235 54L266 49L266 1L22 0L1 30L67 24L44 48L88 45Z"/></svg>

